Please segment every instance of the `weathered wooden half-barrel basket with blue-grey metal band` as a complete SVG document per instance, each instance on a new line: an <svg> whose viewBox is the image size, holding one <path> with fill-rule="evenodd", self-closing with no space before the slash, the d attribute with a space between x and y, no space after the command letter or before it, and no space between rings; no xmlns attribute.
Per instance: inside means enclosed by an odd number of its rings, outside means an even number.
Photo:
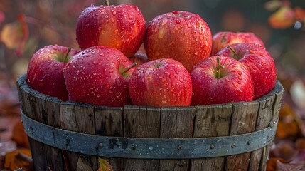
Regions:
<svg viewBox="0 0 305 171"><path fill-rule="evenodd" d="M251 102L110 108L63 102L18 78L36 170L265 170L284 89Z"/></svg>

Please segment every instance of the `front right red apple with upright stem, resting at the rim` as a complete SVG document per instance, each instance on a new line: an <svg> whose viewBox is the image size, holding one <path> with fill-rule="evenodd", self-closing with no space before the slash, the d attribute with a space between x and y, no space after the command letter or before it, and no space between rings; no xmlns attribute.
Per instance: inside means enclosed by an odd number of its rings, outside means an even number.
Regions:
<svg viewBox="0 0 305 171"><path fill-rule="evenodd" d="M192 105L251 101L253 83L247 68L225 56L212 56L194 66Z"/></svg>

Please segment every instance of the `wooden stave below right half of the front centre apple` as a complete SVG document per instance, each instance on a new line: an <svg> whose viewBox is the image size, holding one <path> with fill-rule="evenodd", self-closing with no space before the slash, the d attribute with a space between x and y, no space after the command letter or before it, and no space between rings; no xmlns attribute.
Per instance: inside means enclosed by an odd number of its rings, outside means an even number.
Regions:
<svg viewBox="0 0 305 171"><path fill-rule="evenodd" d="M160 138L191 138L196 108L161 108ZM160 160L159 170L188 170L189 160Z"/></svg>

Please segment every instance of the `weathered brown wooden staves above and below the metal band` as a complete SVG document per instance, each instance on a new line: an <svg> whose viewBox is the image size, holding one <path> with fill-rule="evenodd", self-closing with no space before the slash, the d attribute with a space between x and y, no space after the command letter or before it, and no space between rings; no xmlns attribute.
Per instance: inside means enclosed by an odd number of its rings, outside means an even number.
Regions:
<svg viewBox="0 0 305 171"><path fill-rule="evenodd" d="M18 78L17 88L23 113L38 122L79 133L133 138L203 138L252 133L267 128L272 122L276 124L284 93L277 82L271 93L246 103L109 108L62 102L43 95L28 87L26 76ZM69 142L74 141L69 137L63 140L67 141L68 150ZM58 150L31 138L30 145L36 170L65 170L65 163L68 163L68 170L77 170L77 162L82 167L97 170L97 156ZM156 149L150 146L147 145L147 149ZM216 142L215 146L210 145L212 148L217 148ZM114 170L265 170L269 150L270 145L241 155L191 160L105 159Z"/></svg>

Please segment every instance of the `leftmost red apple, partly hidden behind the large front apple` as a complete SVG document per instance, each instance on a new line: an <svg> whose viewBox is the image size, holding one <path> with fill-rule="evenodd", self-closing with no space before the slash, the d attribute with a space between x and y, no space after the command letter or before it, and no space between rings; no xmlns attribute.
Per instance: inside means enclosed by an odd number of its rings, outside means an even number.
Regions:
<svg viewBox="0 0 305 171"><path fill-rule="evenodd" d="M76 53L75 49L58 45L38 49L28 63L28 86L40 93L68 100L63 68Z"/></svg>

